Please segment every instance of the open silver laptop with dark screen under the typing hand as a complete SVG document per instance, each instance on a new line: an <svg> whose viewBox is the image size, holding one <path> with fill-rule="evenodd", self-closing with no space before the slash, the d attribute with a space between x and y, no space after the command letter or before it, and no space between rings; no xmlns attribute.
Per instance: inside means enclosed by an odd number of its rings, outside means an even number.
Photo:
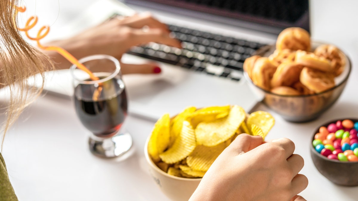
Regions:
<svg viewBox="0 0 358 201"><path fill-rule="evenodd" d="M150 43L124 55L124 63L154 60L162 69L159 75L123 76L129 113L156 120L188 106L228 104L250 112L262 96L243 77L243 61L274 44L287 27L309 31L308 7L308 0L100 0L63 30L75 34L114 15L150 11L182 41L183 49ZM68 70L46 76L48 93L72 95Z"/></svg>

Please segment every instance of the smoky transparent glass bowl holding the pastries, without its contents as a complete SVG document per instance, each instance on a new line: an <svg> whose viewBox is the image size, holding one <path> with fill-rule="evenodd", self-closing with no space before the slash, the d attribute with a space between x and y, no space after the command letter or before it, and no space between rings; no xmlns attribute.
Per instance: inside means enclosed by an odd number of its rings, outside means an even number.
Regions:
<svg viewBox="0 0 358 201"><path fill-rule="evenodd" d="M313 48L323 43L313 43ZM275 50L274 45L263 46L257 50L254 55L267 57ZM318 118L328 108L330 108L342 94L347 84L352 65L346 54L346 64L343 72L335 78L335 86L321 93L310 95L279 95L262 89L255 84L244 72L244 77L248 81L248 85L255 94L262 99L262 103L269 107L272 111L279 114L282 118L289 122L308 122Z"/></svg>

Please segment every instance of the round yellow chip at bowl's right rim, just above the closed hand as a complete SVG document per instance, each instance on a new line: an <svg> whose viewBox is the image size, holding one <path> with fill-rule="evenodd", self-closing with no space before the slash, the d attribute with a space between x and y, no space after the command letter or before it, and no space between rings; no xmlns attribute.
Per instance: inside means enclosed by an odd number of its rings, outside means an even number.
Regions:
<svg viewBox="0 0 358 201"><path fill-rule="evenodd" d="M250 114L247 118L247 126L251 128L252 124L255 124L261 128L263 134L266 136L267 133L275 124L275 119L272 115L265 111L256 111Z"/></svg>

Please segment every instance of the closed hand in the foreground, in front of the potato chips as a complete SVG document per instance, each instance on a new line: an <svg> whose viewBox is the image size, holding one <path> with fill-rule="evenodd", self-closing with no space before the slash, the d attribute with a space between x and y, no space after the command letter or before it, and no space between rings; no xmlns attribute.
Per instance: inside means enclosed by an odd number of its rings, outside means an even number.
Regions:
<svg viewBox="0 0 358 201"><path fill-rule="evenodd" d="M287 138L262 142L240 134L205 173L191 200L303 201L304 161Z"/></svg>

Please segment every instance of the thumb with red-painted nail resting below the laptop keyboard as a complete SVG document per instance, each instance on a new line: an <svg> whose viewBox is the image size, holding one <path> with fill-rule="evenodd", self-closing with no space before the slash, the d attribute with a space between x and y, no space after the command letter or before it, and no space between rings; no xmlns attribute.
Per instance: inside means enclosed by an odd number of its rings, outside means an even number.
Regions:
<svg viewBox="0 0 358 201"><path fill-rule="evenodd" d="M125 64L121 63L122 74L151 74L151 73L160 73L161 69L157 64L146 63L146 64Z"/></svg>

